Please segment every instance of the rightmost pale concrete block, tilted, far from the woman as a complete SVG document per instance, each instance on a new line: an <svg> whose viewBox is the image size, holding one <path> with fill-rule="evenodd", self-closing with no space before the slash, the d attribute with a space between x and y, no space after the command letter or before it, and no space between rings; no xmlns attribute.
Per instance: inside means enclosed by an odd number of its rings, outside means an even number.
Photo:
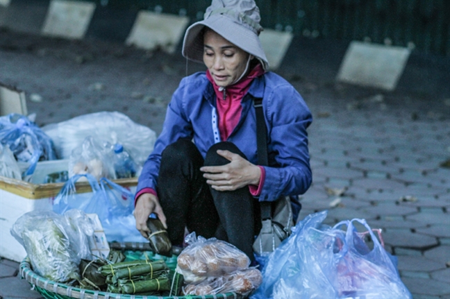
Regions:
<svg viewBox="0 0 450 299"><path fill-rule="evenodd" d="M344 83L394 90L410 55L410 49L351 42L338 72Z"/></svg>

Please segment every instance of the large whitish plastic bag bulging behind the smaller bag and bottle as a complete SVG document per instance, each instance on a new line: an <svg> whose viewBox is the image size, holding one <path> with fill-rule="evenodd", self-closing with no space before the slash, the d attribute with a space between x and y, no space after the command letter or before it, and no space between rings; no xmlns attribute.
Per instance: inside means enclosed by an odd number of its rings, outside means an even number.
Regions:
<svg viewBox="0 0 450 299"><path fill-rule="evenodd" d="M110 144L122 144L139 169L149 157L156 142L156 133L146 126L133 122L119 112L97 112L74 117L68 121L52 123L42 128L53 139L60 159L68 159L72 150L92 136Z"/></svg>

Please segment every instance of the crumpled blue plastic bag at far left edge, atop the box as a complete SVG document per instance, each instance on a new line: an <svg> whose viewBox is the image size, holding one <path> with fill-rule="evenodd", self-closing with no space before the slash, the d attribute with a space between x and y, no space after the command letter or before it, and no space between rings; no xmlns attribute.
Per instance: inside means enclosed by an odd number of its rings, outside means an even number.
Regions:
<svg viewBox="0 0 450 299"><path fill-rule="evenodd" d="M38 161L56 159L51 138L20 114L0 117L0 143L8 144L17 161L29 164L24 176L33 174Z"/></svg>

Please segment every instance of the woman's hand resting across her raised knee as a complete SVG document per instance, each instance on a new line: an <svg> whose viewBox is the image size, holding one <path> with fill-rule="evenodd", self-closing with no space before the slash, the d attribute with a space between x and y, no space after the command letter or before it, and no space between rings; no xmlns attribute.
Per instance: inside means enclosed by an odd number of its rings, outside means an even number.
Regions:
<svg viewBox="0 0 450 299"><path fill-rule="evenodd" d="M217 151L230 163L222 166L203 166L203 177L206 183L217 191L233 191L247 185L258 185L261 178L261 169L251 164L238 154L231 151Z"/></svg>

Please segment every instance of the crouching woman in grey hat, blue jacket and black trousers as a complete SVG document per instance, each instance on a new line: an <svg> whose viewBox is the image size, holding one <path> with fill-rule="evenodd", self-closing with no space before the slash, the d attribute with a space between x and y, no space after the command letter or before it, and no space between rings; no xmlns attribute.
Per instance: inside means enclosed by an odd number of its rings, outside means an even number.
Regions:
<svg viewBox="0 0 450 299"><path fill-rule="evenodd" d="M205 19L186 31L183 55L207 70L181 80L144 164L135 196L144 237L153 212L174 245L183 244L187 228L228 241L253 260L259 201L310 186L311 114L292 85L266 72L259 22L253 0L213 0ZM257 165L254 99L263 99L269 166ZM297 200L292 207L296 219Z"/></svg>

